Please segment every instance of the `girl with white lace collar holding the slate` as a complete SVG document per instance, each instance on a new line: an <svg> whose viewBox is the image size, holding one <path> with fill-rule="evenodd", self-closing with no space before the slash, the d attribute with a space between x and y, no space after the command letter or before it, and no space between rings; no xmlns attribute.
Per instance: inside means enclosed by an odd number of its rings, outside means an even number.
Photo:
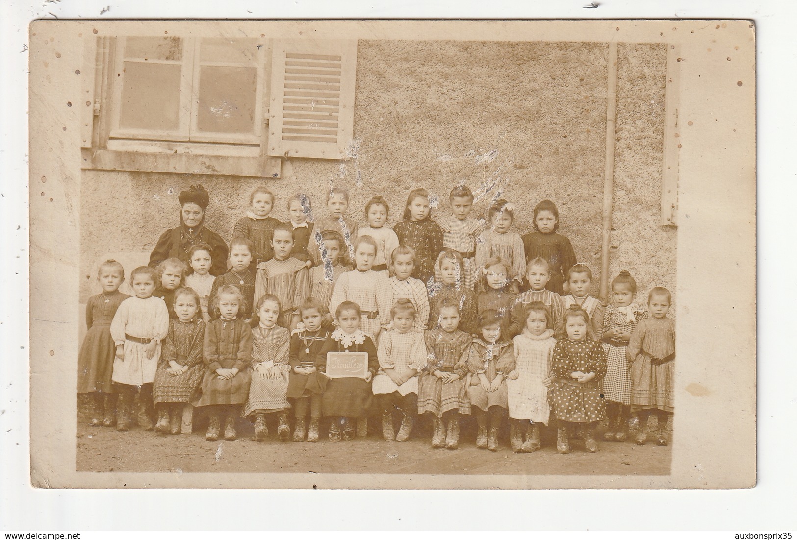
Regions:
<svg viewBox="0 0 797 540"><path fill-rule="evenodd" d="M325 417L331 417L329 425L329 440L333 443L340 442L340 428L343 428L343 438L354 438L355 426L352 419L357 421L357 436L367 434L368 409L374 401L371 392L371 379L379 369L379 360L376 356L374 342L359 329L359 306L348 300L341 302L337 307L335 317L339 327L332 332L316 357L316 368L324 373L327 369L327 353L352 352L368 354L368 373L365 378L334 378L329 379L324 397L321 400L321 409Z"/></svg>

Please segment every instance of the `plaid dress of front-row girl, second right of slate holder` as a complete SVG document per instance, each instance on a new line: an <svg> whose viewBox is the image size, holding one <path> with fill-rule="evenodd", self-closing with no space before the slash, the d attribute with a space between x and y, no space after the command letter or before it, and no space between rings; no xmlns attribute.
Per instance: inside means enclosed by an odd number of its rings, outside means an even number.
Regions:
<svg viewBox="0 0 797 540"><path fill-rule="evenodd" d="M470 401L465 387L470 335L461 330L451 333L440 329L427 330L424 342L427 359L426 369L418 380L418 414L432 413L438 418L451 410L470 414ZM444 384L434 376L437 370L455 373L459 375L459 380Z"/></svg>

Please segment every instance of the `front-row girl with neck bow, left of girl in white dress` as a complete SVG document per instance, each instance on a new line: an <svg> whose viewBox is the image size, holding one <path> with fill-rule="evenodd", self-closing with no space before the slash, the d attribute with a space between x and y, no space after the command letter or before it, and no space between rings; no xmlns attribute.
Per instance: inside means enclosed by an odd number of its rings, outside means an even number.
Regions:
<svg viewBox="0 0 797 540"><path fill-rule="evenodd" d="M498 428L508 407L506 376L515 369L512 342L501 335L501 314L489 309L479 316L479 337L468 354L470 405L476 409L476 448L498 450ZM487 419L489 415L489 432Z"/></svg>

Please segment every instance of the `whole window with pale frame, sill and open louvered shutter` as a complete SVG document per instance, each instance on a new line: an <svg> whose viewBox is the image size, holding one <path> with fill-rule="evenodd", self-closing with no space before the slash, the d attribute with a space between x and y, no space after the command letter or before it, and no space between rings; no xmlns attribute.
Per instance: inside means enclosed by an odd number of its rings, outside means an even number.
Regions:
<svg viewBox="0 0 797 540"><path fill-rule="evenodd" d="M356 50L338 40L100 38L84 167L274 177L283 156L345 159Z"/></svg>

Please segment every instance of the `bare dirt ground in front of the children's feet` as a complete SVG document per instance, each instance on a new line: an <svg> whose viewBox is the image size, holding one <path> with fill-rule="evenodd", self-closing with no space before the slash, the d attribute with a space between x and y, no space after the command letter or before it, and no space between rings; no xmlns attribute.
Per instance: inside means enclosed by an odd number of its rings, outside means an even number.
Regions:
<svg viewBox="0 0 797 540"><path fill-rule="evenodd" d="M532 454L514 454L508 427L500 433L498 452L475 446L475 422L463 422L460 448L430 446L431 423L422 419L406 442L382 440L381 425L371 418L366 439L331 443L322 425L318 443L279 442L269 424L265 442L251 440L253 428L238 419L238 440L205 440L206 421L194 422L191 434L160 436L134 426L129 432L88 425L88 409L77 418L77 471L82 472L317 472L518 475L667 475L672 447L650 441L637 446L599 440L587 454L583 440L571 440L572 452L556 453L555 433L544 433L544 446ZM651 421L654 425L655 421ZM132 451L133 450L133 451ZM352 464L356 464L352 466Z"/></svg>

